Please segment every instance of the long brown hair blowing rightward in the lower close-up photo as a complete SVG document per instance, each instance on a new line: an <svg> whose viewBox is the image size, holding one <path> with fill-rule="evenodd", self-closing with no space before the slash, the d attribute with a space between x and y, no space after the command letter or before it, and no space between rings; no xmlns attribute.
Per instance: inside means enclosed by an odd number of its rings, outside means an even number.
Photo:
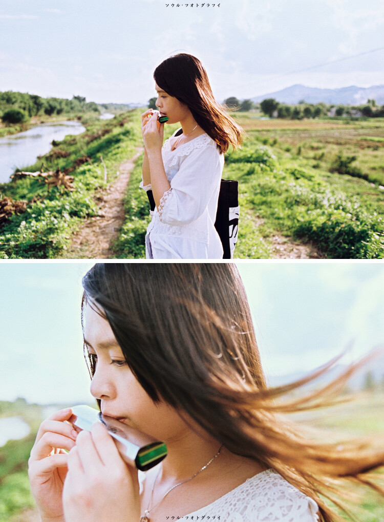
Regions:
<svg viewBox="0 0 384 522"><path fill-rule="evenodd" d="M344 520L324 500L347 513L343 483L384 495L373 480L384 465L382 443L318 442L282 416L329 403L357 364L320 392L283 401L332 363L294 384L266 386L235 265L96 264L83 286L82 310L89 303L108 319L127 364L154 401L185 412L231 452L275 469L318 503L321 522ZM89 368L92 375L92 355Z"/></svg>

